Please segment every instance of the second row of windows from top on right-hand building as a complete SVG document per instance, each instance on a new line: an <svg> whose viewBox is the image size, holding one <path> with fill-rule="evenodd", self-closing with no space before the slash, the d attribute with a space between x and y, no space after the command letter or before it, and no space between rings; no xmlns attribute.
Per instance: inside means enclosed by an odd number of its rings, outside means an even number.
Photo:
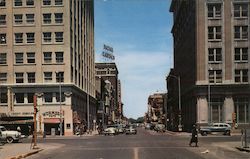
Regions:
<svg viewBox="0 0 250 159"><path fill-rule="evenodd" d="M221 40L222 31L221 26L208 27L209 40ZM247 40L248 39L248 26L234 26L234 39Z"/></svg>

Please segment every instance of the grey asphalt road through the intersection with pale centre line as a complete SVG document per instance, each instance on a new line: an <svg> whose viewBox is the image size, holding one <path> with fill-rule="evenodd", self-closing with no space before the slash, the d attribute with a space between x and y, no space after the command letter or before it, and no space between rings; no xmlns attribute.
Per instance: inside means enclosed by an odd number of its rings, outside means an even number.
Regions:
<svg viewBox="0 0 250 159"><path fill-rule="evenodd" d="M29 159L201 159L249 158L228 149L218 149L211 145L218 141L237 140L238 137L202 137L200 146L189 147L189 136L157 134L138 129L137 135L94 136L67 139L45 139L40 142L59 143L58 149L45 150ZM204 153L209 149L209 153ZM223 157L223 158L224 158Z"/></svg>

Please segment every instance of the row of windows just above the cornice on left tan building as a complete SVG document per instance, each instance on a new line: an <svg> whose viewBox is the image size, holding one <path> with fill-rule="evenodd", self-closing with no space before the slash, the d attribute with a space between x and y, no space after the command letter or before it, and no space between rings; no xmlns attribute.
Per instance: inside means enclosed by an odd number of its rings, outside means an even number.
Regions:
<svg viewBox="0 0 250 159"><path fill-rule="evenodd" d="M52 72L44 72L44 82L50 83L53 80ZM26 77L24 77L26 75ZM56 72L56 82L64 82L64 72ZM8 73L0 73L0 83L7 82ZM36 73L35 72L16 72L15 73L16 83L36 83Z"/></svg>

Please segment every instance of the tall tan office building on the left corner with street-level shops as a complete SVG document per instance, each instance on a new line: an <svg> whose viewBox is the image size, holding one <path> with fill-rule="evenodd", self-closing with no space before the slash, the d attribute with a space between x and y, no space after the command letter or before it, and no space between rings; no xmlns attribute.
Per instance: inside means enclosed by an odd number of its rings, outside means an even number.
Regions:
<svg viewBox="0 0 250 159"><path fill-rule="evenodd" d="M94 120L93 0L0 0L1 120L70 135ZM88 109L89 108L89 109ZM88 118L89 117L89 118ZM23 120L23 122L20 122Z"/></svg>

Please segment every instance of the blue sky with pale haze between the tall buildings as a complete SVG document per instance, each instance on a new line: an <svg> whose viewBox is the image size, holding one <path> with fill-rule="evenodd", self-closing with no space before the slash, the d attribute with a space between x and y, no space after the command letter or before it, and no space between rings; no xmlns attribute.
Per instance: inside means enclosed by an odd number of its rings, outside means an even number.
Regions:
<svg viewBox="0 0 250 159"><path fill-rule="evenodd" d="M166 91L173 65L171 0L95 0L95 59L113 47L122 85L124 115L147 112L148 97Z"/></svg>

